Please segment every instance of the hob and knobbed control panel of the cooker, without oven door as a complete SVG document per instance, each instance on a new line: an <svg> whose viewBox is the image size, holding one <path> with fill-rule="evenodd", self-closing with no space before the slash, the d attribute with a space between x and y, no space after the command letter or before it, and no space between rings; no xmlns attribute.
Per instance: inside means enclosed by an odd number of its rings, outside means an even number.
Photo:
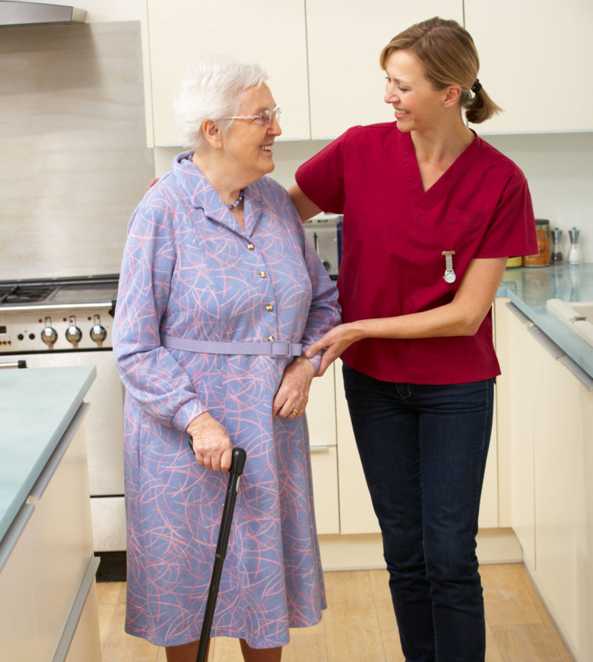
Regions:
<svg viewBox="0 0 593 662"><path fill-rule="evenodd" d="M0 282L0 353L111 348L118 275Z"/></svg>

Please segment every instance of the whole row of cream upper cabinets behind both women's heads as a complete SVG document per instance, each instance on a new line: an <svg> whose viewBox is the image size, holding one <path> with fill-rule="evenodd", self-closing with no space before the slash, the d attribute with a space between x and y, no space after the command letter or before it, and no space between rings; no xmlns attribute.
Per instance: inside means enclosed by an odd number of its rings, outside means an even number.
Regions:
<svg viewBox="0 0 593 662"><path fill-rule="evenodd" d="M465 13L464 13L465 7ZM432 16L470 31L479 79L505 112L482 134L593 130L593 2L568 0L146 0L144 83L149 146L178 146L171 105L187 67L211 52L256 61L282 108L282 140L332 139L357 124L392 121L381 49Z"/></svg>

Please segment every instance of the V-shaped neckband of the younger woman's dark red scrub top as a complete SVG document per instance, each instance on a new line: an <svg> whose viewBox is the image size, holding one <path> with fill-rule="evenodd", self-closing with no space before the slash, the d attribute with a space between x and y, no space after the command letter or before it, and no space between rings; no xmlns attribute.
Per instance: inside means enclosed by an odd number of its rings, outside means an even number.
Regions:
<svg viewBox="0 0 593 662"><path fill-rule="evenodd" d="M435 205L447 191L451 189L454 183L467 171L470 164L475 161L478 155L477 141L478 137L461 152L454 162L445 170L445 172L436 180L431 187L424 190L422 176L416 158L416 151L410 133L402 133L401 141L401 159L403 170L408 182L408 191L415 206L424 210L430 209Z"/></svg>

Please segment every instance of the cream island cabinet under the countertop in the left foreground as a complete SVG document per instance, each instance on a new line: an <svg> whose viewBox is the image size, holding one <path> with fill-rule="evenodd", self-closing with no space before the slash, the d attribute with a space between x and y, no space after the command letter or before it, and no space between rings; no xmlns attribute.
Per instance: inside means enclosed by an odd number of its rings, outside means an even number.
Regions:
<svg viewBox="0 0 593 662"><path fill-rule="evenodd" d="M1 659L100 662L85 408L1 541Z"/></svg>

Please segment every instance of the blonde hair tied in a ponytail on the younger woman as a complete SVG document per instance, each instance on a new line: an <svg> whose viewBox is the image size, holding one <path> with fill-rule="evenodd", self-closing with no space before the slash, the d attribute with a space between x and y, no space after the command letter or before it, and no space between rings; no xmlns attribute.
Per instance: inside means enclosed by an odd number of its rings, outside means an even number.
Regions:
<svg viewBox="0 0 593 662"><path fill-rule="evenodd" d="M502 111L477 80L479 58L474 40L458 22L436 16L410 26L385 46L381 68L385 69L390 54L398 49L415 56L436 89L461 86L461 107L468 122L479 124Z"/></svg>

